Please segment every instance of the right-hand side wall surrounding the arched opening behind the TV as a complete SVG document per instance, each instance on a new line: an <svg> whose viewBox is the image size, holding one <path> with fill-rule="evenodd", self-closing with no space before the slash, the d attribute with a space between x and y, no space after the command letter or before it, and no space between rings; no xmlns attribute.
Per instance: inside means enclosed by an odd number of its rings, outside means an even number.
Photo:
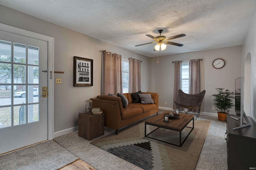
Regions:
<svg viewBox="0 0 256 170"><path fill-rule="evenodd" d="M245 60L246 57L251 57L251 75L245 74ZM248 30L244 43L242 45L242 76L247 77L251 76L251 89L250 91L250 113L246 113L247 116L251 116L254 121L256 121L256 18L254 16L254 20ZM246 90L247 91L247 90ZM245 94L248 95L248 94Z"/></svg>

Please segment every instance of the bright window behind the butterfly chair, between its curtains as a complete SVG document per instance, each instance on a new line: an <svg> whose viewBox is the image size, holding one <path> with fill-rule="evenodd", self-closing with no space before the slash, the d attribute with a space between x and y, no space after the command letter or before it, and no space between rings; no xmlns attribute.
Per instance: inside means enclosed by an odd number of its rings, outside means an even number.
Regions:
<svg viewBox="0 0 256 170"><path fill-rule="evenodd" d="M182 62L182 69L181 69L181 90L184 93L189 93L189 61Z"/></svg>

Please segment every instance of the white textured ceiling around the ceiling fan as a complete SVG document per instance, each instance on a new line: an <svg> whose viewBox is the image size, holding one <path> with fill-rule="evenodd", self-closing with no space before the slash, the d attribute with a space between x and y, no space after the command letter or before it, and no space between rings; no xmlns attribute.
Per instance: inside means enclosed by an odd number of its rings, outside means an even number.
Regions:
<svg viewBox="0 0 256 170"><path fill-rule="evenodd" d="M136 53L155 57L146 34L185 37L161 55L242 45L256 0L0 0L0 4ZM107 49L106 49L107 50Z"/></svg>

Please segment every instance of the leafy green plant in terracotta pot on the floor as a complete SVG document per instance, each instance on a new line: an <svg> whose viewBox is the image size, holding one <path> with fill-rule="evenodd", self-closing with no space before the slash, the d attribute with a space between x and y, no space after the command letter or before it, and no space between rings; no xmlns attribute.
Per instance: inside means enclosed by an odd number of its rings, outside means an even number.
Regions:
<svg viewBox="0 0 256 170"><path fill-rule="evenodd" d="M213 94L214 97L213 104L218 109L218 119L220 121L227 121L227 114L229 112L229 109L231 109L234 104L232 103L232 100L234 97L234 92L231 92L230 90L224 90L224 88L215 88L218 92L217 94Z"/></svg>

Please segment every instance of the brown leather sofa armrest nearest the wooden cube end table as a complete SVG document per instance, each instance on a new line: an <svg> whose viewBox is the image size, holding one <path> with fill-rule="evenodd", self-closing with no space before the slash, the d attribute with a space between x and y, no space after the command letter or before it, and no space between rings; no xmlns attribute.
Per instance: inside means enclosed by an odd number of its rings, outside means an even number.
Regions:
<svg viewBox="0 0 256 170"><path fill-rule="evenodd" d="M92 100L92 107L100 107L100 109L102 109L103 113L105 114L105 126L115 130L118 129L118 125L122 120L119 102L113 100L103 100L98 98L91 98L90 100Z"/></svg>

